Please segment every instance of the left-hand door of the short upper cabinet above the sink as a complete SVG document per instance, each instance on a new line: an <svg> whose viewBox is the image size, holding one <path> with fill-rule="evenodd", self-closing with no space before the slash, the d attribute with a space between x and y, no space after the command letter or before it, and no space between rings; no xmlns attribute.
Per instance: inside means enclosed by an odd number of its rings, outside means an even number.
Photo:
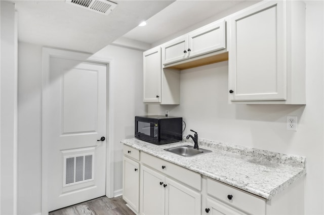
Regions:
<svg viewBox="0 0 324 215"><path fill-rule="evenodd" d="M188 58L188 35L178 37L162 45L162 64L170 64Z"/></svg>

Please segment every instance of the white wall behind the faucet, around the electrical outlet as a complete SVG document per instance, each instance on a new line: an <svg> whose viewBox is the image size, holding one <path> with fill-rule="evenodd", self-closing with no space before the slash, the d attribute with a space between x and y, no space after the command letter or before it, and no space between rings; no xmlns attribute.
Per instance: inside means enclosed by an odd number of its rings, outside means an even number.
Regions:
<svg viewBox="0 0 324 215"><path fill-rule="evenodd" d="M180 105L149 114L182 116L199 137L306 156L305 213L324 214L323 2L306 2L306 105L228 104L228 62L181 71ZM286 116L298 131L286 130Z"/></svg>

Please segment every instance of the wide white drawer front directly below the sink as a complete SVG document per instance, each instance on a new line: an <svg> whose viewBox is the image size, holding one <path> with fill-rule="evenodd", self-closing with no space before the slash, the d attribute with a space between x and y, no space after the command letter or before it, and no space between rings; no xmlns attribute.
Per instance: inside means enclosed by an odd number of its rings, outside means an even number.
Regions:
<svg viewBox="0 0 324 215"><path fill-rule="evenodd" d="M201 190L201 176L198 173L187 170L186 168L167 162L164 159L152 156L147 153L141 154L141 162L155 170L162 172L184 184Z"/></svg>

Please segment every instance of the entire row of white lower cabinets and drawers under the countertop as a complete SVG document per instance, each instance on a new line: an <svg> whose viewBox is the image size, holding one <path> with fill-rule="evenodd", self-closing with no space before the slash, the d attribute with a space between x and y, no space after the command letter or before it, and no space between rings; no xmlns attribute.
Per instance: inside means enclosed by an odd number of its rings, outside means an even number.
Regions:
<svg viewBox="0 0 324 215"><path fill-rule="evenodd" d="M124 145L123 198L137 214L302 214L304 180L270 200Z"/></svg>

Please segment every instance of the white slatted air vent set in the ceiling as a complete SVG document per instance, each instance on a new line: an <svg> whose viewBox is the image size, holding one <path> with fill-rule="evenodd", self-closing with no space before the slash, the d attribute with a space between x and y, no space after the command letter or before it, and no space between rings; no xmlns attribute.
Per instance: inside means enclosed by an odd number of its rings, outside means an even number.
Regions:
<svg viewBox="0 0 324 215"><path fill-rule="evenodd" d="M104 15L108 15L117 6L116 3L107 0L65 0L65 2Z"/></svg>

